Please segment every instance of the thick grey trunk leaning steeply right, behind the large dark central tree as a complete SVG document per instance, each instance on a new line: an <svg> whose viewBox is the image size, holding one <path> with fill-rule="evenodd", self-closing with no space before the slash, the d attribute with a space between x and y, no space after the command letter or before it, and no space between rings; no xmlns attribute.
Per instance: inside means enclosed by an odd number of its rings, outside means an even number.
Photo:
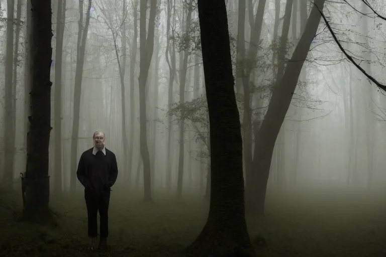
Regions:
<svg viewBox="0 0 386 257"><path fill-rule="evenodd" d="M287 62L284 75L273 89L268 110L258 134L255 134L252 179L256 186L252 189L252 196L254 197L249 198L247 204L248 209L257 215L264 214L265 193L273 148L289 104L291 104L303 63L319 27L321 18L319 10L323 10L324 2L325 0L315 1L305 32L299 40L292 58Z"/></svg>

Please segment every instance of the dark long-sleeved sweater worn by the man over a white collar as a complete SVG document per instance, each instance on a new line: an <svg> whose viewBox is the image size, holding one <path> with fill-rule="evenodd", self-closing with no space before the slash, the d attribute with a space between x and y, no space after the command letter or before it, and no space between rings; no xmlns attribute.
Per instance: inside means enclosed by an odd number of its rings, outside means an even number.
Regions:
<svg viewBox="0 0 386 257"><path fill-rule="evenodd" d="M76 176L84 188L110 190L118 177L115 154L106 149L106 156L102 151L93 155L92 149L84 151L80 156Z"/></svg>

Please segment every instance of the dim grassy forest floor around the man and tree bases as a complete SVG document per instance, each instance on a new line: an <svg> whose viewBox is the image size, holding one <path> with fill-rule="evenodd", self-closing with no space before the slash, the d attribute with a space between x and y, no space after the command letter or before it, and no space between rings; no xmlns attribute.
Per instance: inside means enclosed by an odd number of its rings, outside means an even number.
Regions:
<svg viewBox="0 0 386 257"><path fill-rule="evenodd" d="M17 221L20 190L0 191L0 256L183 256L205 224L202 200L158 197L144 204L139 195L121 190L112 192L111 249L98 253L87 250L81 190L76 196L51 197L59 214L57 228ZM385 196L337 188L269 192L266 215L247 216L257 256L384 257Z"/></svg>

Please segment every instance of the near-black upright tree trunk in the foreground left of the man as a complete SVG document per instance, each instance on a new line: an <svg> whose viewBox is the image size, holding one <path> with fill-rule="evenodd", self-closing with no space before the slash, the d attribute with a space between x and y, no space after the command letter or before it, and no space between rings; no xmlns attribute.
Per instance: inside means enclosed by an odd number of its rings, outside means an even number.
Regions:
<svg viewBox="0 0 386 257"><path fill-rule="evenodd" d="M50 183L48 148L51 132L51 1L31 0L31 109L27 141L26 205L24 218L45 221L50 217L48 207Z"/></svg>

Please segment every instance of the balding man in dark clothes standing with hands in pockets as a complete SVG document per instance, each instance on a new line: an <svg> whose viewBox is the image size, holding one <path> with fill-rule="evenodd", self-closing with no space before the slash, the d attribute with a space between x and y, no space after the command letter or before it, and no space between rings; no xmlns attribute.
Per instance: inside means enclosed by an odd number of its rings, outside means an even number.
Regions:
<svg viewBox="0 0 386 257"><path fill-rule="evenodd" d="M96 223L98 211L100 215L99 248L107 249L110 191L117 180L118 165L115 154L105 147L105 134L102 131L95 131L92 138L94 147L80 156L76 176L84 186L91 249L98 235L98 224Z"/></svg>

